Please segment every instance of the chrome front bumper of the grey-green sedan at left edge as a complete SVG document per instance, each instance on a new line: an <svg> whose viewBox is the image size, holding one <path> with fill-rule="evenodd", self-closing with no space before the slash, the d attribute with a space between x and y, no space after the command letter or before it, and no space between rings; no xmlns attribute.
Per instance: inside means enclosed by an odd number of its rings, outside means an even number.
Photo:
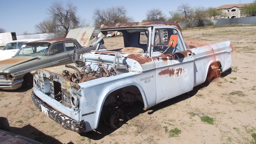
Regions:
<svg viewBox="0 0 256 144"><path fill-rule="evenodd" d="M21 87L23 78L14 81L0 81L0 89L17 89Z"/></svg>

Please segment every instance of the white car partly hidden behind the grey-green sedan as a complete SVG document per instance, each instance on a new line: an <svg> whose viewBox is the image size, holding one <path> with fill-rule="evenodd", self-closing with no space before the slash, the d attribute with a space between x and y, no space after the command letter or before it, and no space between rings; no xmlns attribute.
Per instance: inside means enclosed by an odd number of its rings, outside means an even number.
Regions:
<svg viewBox="0 0 256 144"><path fill-rule="evenodd" d="M40 38L31 38L31 39L19 39L9 41L3 48L0 49L0 60L4 60L14 56L18 49L25 42L41 40Z"/></svg>

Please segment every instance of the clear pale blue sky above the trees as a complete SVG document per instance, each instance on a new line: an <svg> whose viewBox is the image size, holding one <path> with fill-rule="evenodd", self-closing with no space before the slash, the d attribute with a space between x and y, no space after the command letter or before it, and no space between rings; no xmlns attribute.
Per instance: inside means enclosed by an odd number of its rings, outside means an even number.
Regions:
<svg viewBox="0 0 256 144"><path fill-rule="evenodd" d="M65 5L68 1L77 7L77 16L93 23L92 14L96 8L110 8L124 6L127 16L134 21L145 19L147 10L159 8L166 17L169 11L176 11L177 6L187 3L191 7L218 7L224 4L250 3L254 0L0 0L0 28L6 32L16 34L35 33L35 25L43 21L47 15L47 8L54 1L61 1ZM92 25L90 25L92 26Z"/></svg>

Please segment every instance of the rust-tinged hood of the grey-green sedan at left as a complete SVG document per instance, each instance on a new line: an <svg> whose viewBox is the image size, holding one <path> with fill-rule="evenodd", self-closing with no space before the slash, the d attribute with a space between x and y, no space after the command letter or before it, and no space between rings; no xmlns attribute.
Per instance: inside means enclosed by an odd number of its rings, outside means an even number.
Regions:
<svg viewBox="0 0 256 144"><path fill-rule="evenodd" d="M39 56L17 56L11 57L8 59L0 60L0 72L4 72L5 69L10 68L12 66L25 63L28 61L36 60L40 58Z"/></svg>

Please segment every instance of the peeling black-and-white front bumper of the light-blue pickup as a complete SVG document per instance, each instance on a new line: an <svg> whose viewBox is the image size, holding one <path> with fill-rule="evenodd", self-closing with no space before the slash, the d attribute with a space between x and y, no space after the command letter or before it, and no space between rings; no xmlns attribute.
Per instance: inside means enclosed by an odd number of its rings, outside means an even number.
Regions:
<svg viewBox="0 0 256 144"><path fill-rule="evenodd" d="M76 121L73 120L62 113L53 110L49 106L47 106L45 103L43 103L33 92L31 92L31 98L34 102L35 106L43 111L46 115L48 115L51 119L56 121L57 123L61 124L64 128L75 131L75 132L84 132L85 127L85 121Z"/></svg>

